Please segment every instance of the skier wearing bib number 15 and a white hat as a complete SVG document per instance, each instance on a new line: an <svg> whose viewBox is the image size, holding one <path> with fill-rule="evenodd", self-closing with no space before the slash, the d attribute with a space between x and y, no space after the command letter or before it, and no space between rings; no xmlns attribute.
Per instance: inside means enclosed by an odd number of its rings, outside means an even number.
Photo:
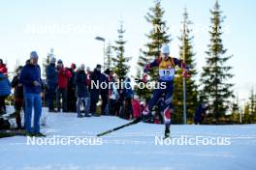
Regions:
<svg viewBox="0 0 256 170"><path fill-rule="evenodd" d="M174 113L174 105L172 103L174 94L174 81L176 66L183 70L183 77L189 77L188 66L182 61L170 56L170 48L168 45L163 45L161 48L161 56L155 59L152 63L144 67L144 82L146 82L146 72L152 68L158 67L159 79L158 83L165 83L166 86L160 86L153 92L152 98L143 111L143 119L148 120L153 117L152 108L157 103L158 99L164 94L163 117L165 122L165 138L170 137L171 115Z"/></svg>

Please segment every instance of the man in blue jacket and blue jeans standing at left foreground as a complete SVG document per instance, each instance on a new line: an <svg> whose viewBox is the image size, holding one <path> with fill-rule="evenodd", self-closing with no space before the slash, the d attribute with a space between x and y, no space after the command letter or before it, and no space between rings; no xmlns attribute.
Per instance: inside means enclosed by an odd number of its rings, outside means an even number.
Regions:
<svg viewBox="0 0 256 170"><path fill-rule="evenodd" d="M42 113L41 101L41 69L38 65L36 51L30 53L30 63L25 65L20 72L19 82L23 84L25 99L25 131L27 135L44 136L40 132L40 117ZM31 128L32 109L34 107L34 128Z"/></svg>

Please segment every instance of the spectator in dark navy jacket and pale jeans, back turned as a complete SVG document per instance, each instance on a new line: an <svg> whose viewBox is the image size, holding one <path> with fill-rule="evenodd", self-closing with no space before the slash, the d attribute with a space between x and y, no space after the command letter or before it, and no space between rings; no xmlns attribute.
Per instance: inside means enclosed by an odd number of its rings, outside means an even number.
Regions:
<svg viewBox="0 0 256 170"><path fill-rule="evenodd" d="M88 94L88 86L87 86L87 75L84 71L84 65L80 66L80 69L76 73L76 92L78 97L78 105L77 105L77 112L78 117L81 118L80 114L80 106L83 104L84 113L86 117L90 117L90 113L88 107L89 94Z"/></svg>

